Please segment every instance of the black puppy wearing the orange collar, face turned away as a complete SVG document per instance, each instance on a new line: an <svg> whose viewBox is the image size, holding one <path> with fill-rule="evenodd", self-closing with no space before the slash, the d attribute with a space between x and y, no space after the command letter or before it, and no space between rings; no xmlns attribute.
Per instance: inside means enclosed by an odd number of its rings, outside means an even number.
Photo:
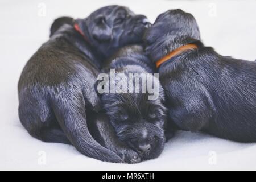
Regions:
<svg viewBox="0 0 256 182"><path fill-rule="evenodd" d="M205 47L195 18L179 9L160 14L144 41L158 67L168 114L180 129L256 141L255 62Z"/></svg>

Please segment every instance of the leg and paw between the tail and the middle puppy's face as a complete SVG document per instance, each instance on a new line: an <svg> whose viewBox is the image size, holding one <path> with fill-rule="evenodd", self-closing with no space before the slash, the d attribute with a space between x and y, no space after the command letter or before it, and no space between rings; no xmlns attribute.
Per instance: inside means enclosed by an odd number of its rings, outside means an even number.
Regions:
<svg viewBox="0 0 256 182"><path fill-rule="evenodd" d="M88 120L90 121L89 130L98 143L121 156L126 163L141 162L139 155L117 138L107 115L97 113L94 118Z"/></svg>

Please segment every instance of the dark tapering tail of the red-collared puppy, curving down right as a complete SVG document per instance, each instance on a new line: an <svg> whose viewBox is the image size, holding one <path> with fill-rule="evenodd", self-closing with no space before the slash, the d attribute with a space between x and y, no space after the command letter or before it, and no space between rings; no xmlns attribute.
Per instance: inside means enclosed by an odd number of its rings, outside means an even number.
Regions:
<svg viewBox="0 0 256 182"><path fill-rule="evenodd" d="M52 103L54 114L68 140L82 154L105 162L121 163L114 152L102 147L89 133L82 93L59 94Z"/></svg>

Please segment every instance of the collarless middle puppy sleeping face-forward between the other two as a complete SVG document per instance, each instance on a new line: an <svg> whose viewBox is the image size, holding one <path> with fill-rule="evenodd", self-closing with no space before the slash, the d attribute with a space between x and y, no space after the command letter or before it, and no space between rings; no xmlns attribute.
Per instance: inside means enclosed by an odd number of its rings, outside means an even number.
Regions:
<svg viewBox="0 0 256 182"><path fill-rule="evenodd" d="M110 59L96 84L118 138L142 160L158 157L165 141L164 93L154 68L142 46L126 46Z"/></svg>

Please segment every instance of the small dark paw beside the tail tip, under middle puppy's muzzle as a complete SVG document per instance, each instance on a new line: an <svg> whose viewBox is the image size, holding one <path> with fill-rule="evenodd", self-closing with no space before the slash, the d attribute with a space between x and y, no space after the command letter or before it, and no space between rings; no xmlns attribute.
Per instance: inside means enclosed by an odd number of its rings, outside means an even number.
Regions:
<svg viewBox="0 0 256 182"><path fill-rule="evenodd" d="M122 158L124 163L135 164L141 162L141 158L137 152L131 150L130 148L122 148L117 152L117 154Z"/></svg>

